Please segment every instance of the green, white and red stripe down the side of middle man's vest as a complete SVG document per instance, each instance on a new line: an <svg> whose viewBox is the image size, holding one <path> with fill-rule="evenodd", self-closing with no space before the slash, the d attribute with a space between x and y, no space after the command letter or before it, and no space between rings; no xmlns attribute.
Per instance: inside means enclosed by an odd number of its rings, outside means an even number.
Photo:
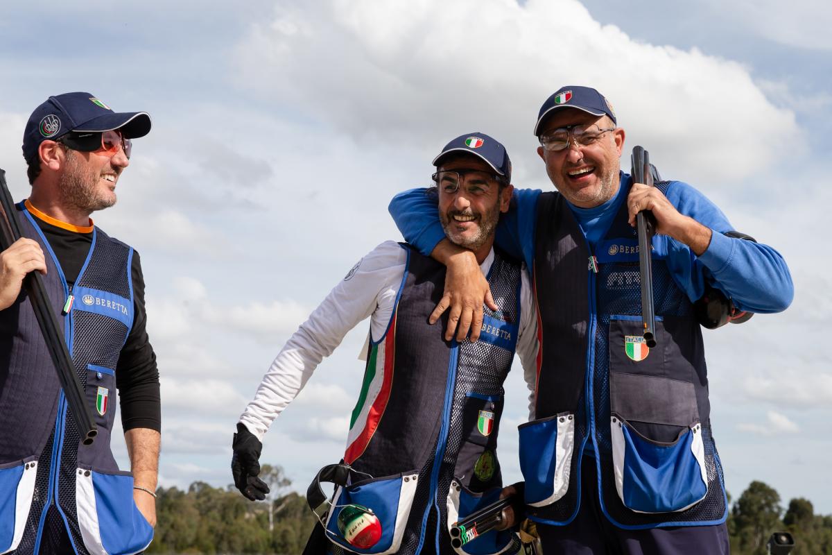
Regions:
<svg viewBox="0 0 832 555"><path fill-rule="evenodd" d="M352 464L364 453L387 408L393 386L395 330L396 315L393 316L393 325L387 331L384 341L372 344L370 348L361 394L349 422L347 451L344 453L344 462L347 464Z"/></svg>

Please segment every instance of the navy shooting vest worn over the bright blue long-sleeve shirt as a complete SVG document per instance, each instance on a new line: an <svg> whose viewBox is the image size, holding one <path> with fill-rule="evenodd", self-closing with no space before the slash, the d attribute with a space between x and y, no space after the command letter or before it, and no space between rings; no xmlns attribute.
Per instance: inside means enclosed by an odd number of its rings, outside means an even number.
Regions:
<svg viewBox="0 0 832 555"><path fill-rule="evenodd" d="M630 183L625 175L621 186ZM664 193L669 182L656 186ZM579 491L581 465L595 463L602 510L620 528L724 522L701 329L666 256L652 257L656 347L648 349L626 202L591 252L567 201L542 193L535 249L537 420L520 429L532 518L571 522L589 494ZM587 442L595 458L582 457Z"/></svg>

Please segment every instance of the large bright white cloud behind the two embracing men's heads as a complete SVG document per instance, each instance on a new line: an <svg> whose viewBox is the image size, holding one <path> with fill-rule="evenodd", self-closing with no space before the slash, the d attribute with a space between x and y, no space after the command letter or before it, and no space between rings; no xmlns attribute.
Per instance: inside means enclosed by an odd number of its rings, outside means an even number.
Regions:
<svg viewBox="0 0 832 555"><path fill-rule="evenodd" d="M460 21L478 33L460 32ZM332 0L303 10L279 2L239 52L250 87L362 141L398 143L404 137L391 130L407 130L418 150L482 128L508 146L520 176L523 166L540 171L537 109L569 83L604 92L631 144L650 146L676 174L727 182L761 171L784 145L800 152L793 114L772 104L747 67L634 42L575 0ZM730 163L710 163L726 151Z"/></svg>

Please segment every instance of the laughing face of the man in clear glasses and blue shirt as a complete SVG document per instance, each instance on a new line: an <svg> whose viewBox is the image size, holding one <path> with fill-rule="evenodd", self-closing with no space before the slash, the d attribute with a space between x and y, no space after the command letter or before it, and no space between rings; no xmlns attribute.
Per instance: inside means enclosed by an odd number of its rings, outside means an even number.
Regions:
<svg viewBox="0 0 832 555"><path fill-rule="evenodd" d="M597 124L601 129L614 127L607 116L593 116L574 108L556 111L541 126L541 136L556 129ZM617 127L604 133L589 146L577 146L570 136L569 146L562 151L546 151L542 146L537 154L546 163L546 173L557 191L581 208L600 206L616 195L624 147L624 130Z"/></svg>

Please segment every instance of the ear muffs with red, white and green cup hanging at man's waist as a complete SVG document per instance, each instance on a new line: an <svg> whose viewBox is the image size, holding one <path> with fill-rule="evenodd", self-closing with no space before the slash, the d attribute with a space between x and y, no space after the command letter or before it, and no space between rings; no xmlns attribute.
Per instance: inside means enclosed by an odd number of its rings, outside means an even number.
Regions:
<svg viewBox="0 0 832 555"><path fill-rule="evenodd" d="M356 548L369 549L372 548L381 539L381 523L379 518L375 516L371 508L349 503L347 505L334 505L324 493L323 488L320 487L321 482L331 482L336 486L342 488L347 487L351 482L350 477L353 474L361 474L367 476L368 474L359 473L354 470L349 464L328 464L321 468L318 474L314 477L310 487L306 490L306 503L309 504L310 509L324 527L326 533L331 533L326 528L327 518L332 509L340 507L338 513L338 531L341 536ZM336 488L337 491L337 488Z"/></svg>

